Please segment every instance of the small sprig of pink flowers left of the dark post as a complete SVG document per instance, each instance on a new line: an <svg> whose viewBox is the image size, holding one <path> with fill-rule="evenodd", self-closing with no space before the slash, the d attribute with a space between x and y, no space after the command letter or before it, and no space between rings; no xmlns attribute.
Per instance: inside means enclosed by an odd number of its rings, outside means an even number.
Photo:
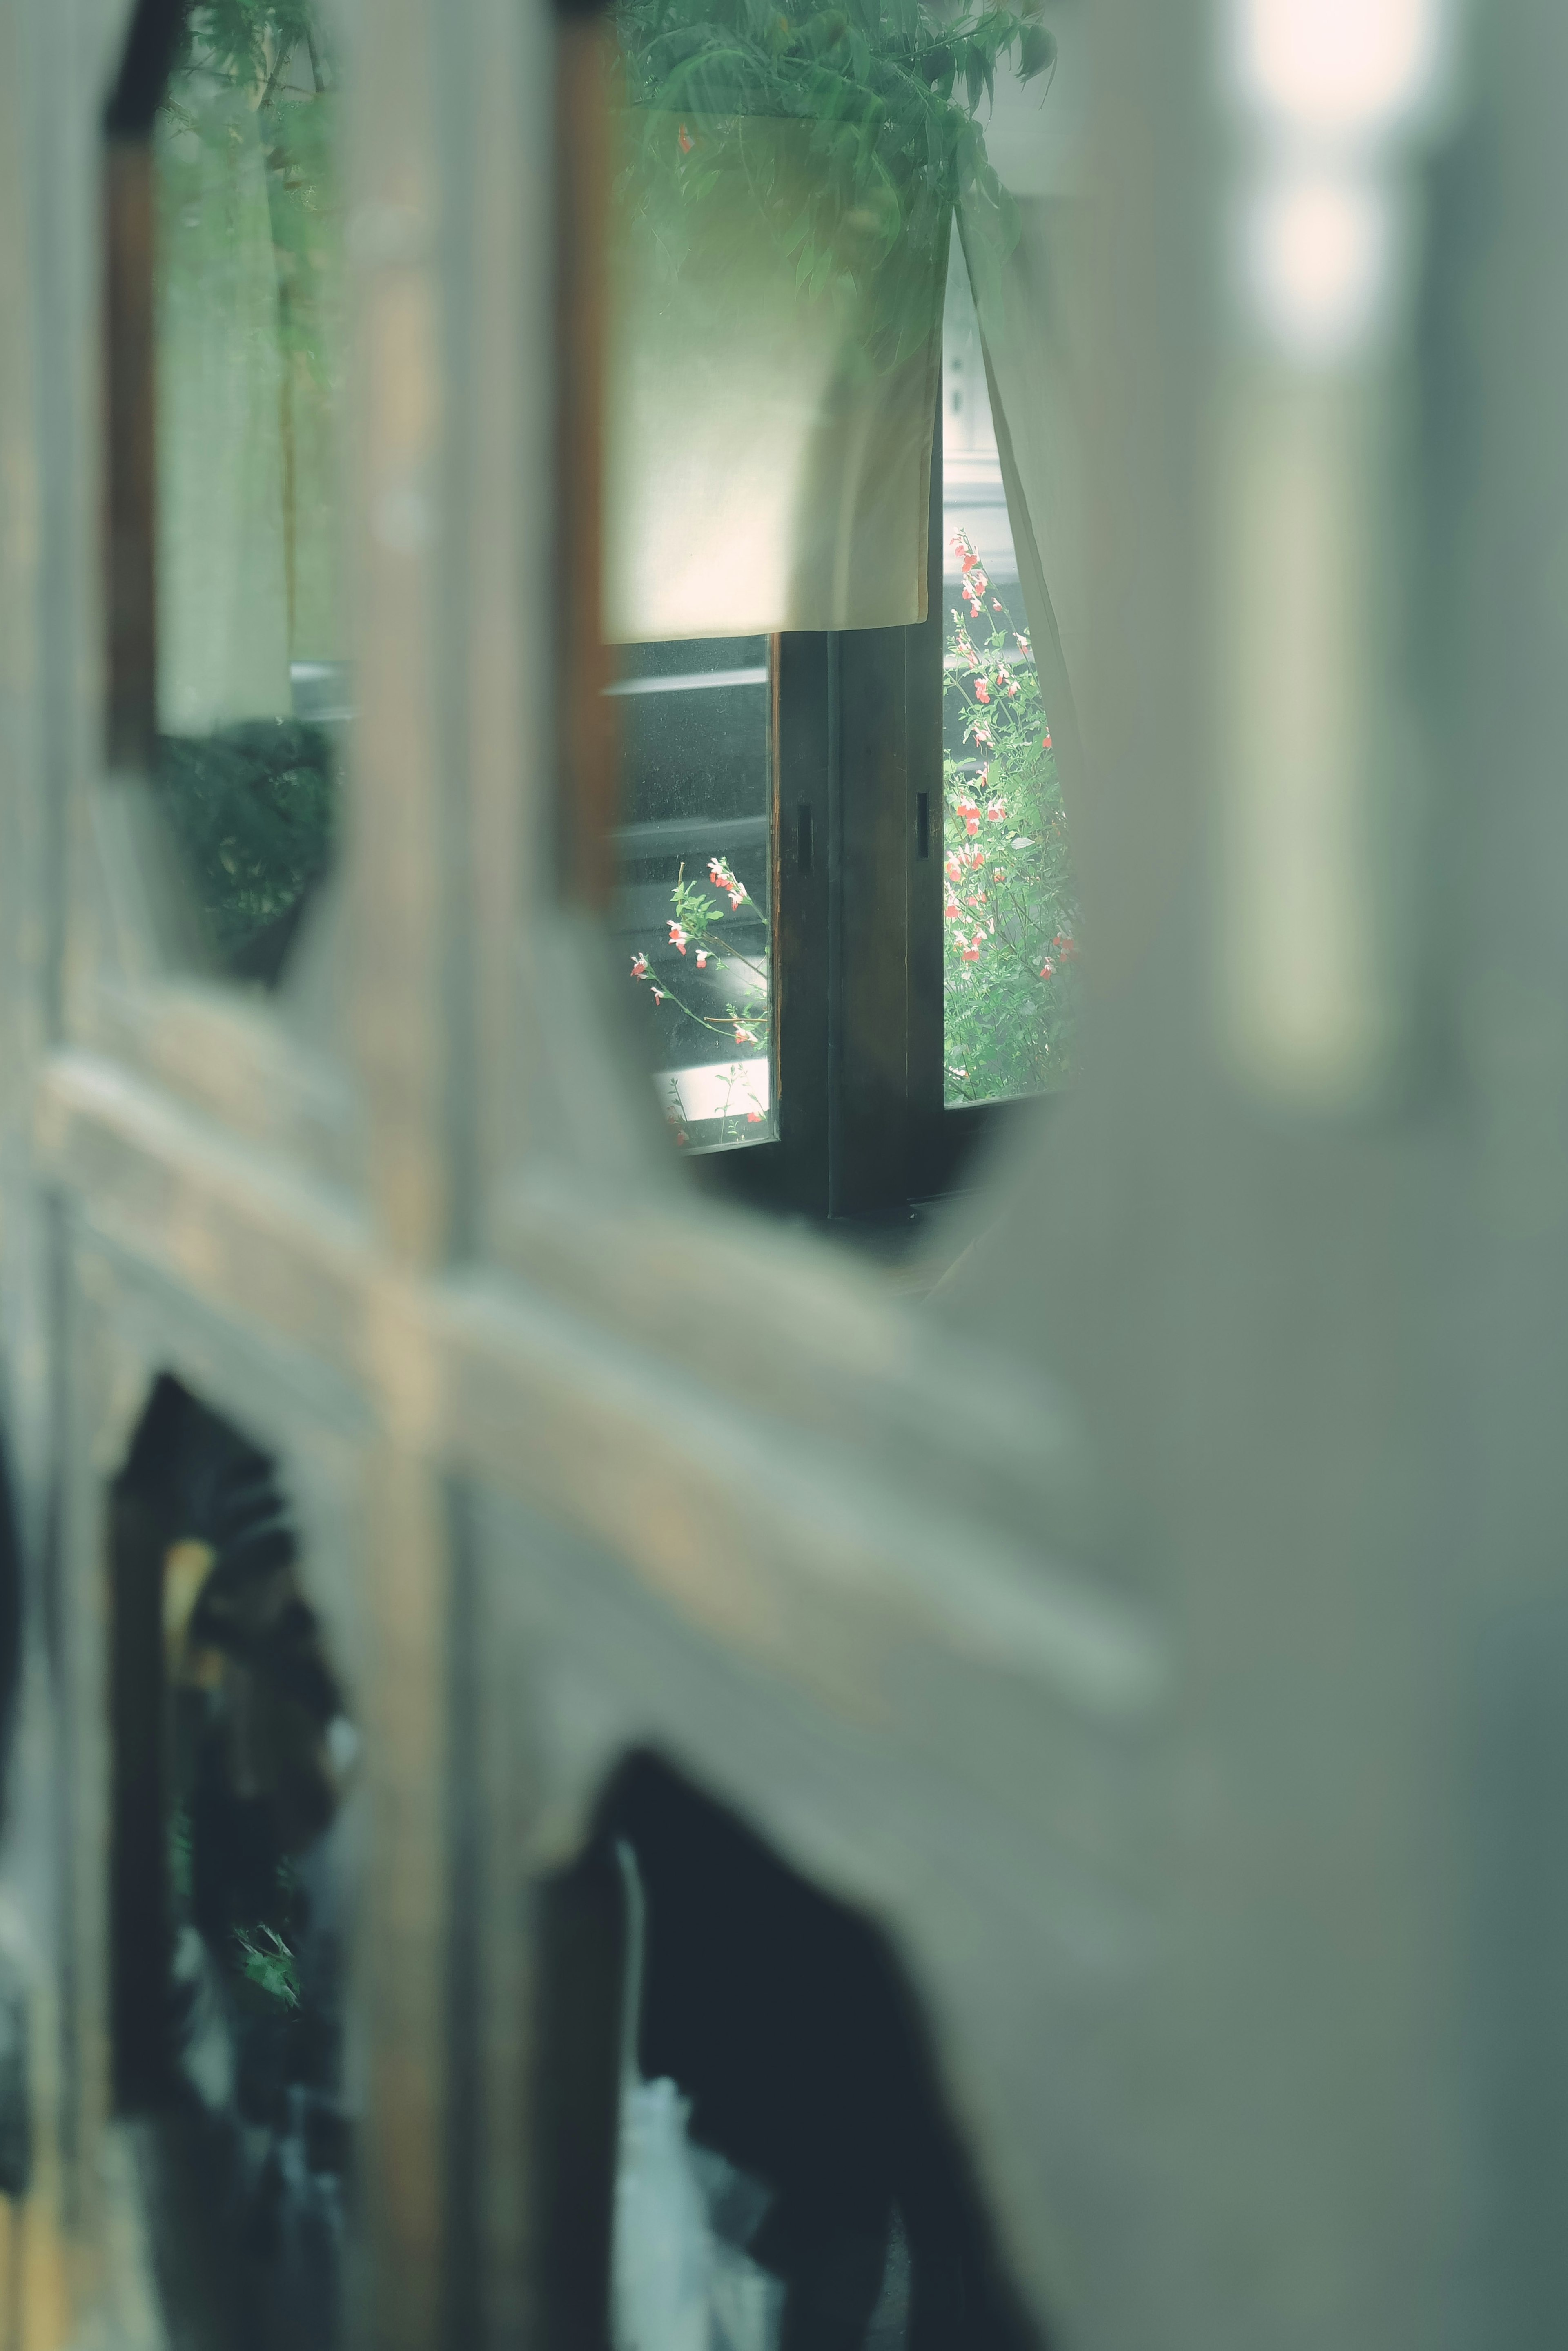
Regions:
<svg viewBox="0 0 1568 2351"><path fill-rule="evenodd" d="M729 912L748 910L755 926L762 929L759 947L738 947L729 938L715 931L715 924L724 922L724 900L729 898ZM701 882L686 882L686 868L682 865L675 877L675 889L670 891L670 905L675 907L668 938L663 938L651 955L658 955L658 969L651 964L649 952L632 957L632 980L642 980L651 994L654 1004L672 1004L679 1016L679 1037L689 1039L691 1030L701 1030L703 1037L722 1037L736 1046L736 1063L729 1065L731 1074L724 1084L722 1107L719 1107L719 1143L743 1143L748 1126L764 1124L764 1110L757 1100L755 1089L750 1089L736 1072L738 1063L766 1063L771 1041L771 994L769 994L769 919L759 903L748 891L745 882L736 875L729 858L708 858L708 875ZM719 945L724 955L719 955ZM679 957L672 964L670 957ZM684 966L684 971L682 971ZM717 976L722 971L736 969L743 983L743 997L736 1004L724 997L724 1011L717 1011ZM701 973L701 978L698 978ZM708 1002L691 1002L703 994ZM686 1027L691 1023L691 1027ZM684 1110L679 1100L679 1089L670 1079L670 1103L668 1119L675 1128L675 1140L686 1143Z"/></svg>

